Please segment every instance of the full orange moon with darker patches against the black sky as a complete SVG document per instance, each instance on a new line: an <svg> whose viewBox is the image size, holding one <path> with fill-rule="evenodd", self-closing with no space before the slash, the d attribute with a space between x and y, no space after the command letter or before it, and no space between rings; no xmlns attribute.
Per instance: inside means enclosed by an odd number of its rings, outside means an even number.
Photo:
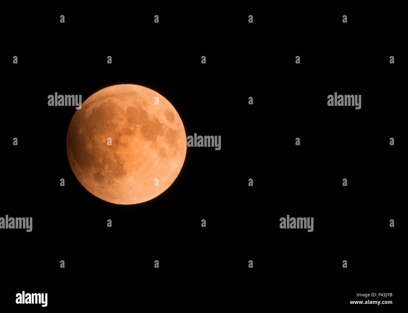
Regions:
<svg viewBox="0 0 408 313"><path fill-rule="evenodd" d="M164 192L180 173L186 150L173 105L139 85L95 92L75 110L67 134L75 177L96 197L116 204L141 203Z"/></svg>

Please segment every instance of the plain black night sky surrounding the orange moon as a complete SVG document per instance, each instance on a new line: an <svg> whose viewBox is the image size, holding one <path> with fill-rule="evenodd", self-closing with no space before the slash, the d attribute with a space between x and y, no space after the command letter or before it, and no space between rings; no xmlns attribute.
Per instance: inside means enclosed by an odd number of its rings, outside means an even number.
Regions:
<svg viewBox="0 0 408 313"><path fill-rule="evenodd" d="M353 309L356 293L381 291L395 293L387 309L397 308L401 20L394 11L381 12L380 24L378 11L304 9L4 12L0 217L33 217L33 231L0 230L0 303L47 309L16 305L25 290L48 293L51 311ZM188 147L176 181L151 201L95 197L67 159L75 108L49 107L47 96L82 94L84 102L117 84L155 90L187 136L220 135L221 150ZM361 110L328 107L335 92L361 94ZM314 217L314 231L279 229L286 215Z"/></svg>

